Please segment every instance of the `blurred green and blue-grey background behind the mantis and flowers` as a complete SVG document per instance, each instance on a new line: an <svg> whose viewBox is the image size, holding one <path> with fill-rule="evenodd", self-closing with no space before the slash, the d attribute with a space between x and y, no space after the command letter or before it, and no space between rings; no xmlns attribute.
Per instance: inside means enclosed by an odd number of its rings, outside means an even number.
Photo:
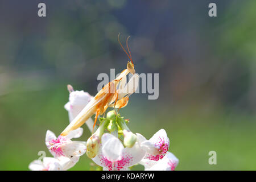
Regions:
<svg viewBox="0 0 256 182"><path fill-rule="evenodd" d="M136 71L159 73L158 100L133 94L121 110L130 129L147 138L165 129L176 170L255 170L256 1L214 1L214 18L210 2L1 0L0 169L27 170L42 150L51 156L45 134L68 125L67 84L94 96L99 73L125 69L121 32ZM83 155L71 170L90 163Z"/></svg>

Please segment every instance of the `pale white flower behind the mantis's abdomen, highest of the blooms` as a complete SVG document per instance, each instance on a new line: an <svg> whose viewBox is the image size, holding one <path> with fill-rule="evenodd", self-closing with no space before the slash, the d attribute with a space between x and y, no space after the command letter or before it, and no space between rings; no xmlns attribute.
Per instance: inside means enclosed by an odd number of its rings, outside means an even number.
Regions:
<svg viewBox="0 0 256 182"><path fill-rule="evenodd" d="M84 92L84 90L74 91L71 85L68 85L68 89L70 92L69 102L64 105L64 108L68 111L69 122L72 122L80 111L93 99L93 97L90 96L88 92ZM88 121L86 121L86 125L89 127L89 130L92 131L92 118L89 118Z"/></svg>

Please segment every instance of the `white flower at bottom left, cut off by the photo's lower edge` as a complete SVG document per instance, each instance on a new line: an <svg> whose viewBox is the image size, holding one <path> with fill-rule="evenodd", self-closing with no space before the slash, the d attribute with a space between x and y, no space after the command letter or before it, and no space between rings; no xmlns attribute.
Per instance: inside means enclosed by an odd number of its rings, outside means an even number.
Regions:
<svg viewBox="0 0 256 182"><path fill-rule="evenodd" d="M67 170L68 158L62 158L61 160L55 158L43 158L41 160L34 160L30 163L28 168L32 171L63 171Z"/></svg>

